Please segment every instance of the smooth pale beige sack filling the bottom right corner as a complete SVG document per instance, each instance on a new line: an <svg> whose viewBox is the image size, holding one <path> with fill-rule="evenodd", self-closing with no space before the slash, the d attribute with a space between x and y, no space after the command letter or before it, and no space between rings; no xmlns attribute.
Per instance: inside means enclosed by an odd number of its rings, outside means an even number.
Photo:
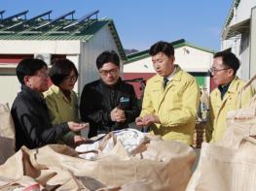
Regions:
<svg viewBox="0 0 256 191"><path fill-rule="evenodd" d="M254 144L255 147L255 144ZM187 191L254 191L256 149L202 143L201 158Z"/></svg>

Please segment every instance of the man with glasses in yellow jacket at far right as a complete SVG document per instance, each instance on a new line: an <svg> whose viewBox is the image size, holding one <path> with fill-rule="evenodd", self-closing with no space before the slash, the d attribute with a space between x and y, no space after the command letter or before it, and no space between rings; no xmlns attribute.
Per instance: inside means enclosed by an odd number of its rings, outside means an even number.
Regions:
<svg viewBox="0 0 256 191"><path fill-rule="evenodd" d="M220 51L214 54L210 73L218 85L210 93L210 120L206 127L206 139L211 143L218 142L227 130L227 112L239 108L238 91L245 82L236 76L239 68L238 57L230 51ZM255 90L252 86L241 94L241 108L248 105Z"/></svg>

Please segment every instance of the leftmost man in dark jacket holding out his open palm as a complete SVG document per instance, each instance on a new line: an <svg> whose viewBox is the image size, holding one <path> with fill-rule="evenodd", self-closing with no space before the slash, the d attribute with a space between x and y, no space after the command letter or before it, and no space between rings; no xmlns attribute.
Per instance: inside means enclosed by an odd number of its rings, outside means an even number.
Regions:
<svg viewBox="0 0 256 191"><path fill-rule="evenodd" d="M18 63L21 91L11 113L16 128L16 150L22 145L36 148L56 141L69 131L80 131L88 124L72 121L52 125L42 92L48 89L47 64L39 59L27 58Z"/></svg>

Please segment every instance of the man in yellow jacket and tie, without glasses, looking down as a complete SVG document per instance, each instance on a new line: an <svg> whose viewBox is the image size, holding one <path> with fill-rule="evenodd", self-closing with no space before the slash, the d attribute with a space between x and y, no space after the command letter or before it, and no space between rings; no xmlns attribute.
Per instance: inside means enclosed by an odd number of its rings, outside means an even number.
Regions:
<svg viewBox="0 0 256 191"><path fill-rule="evenodd" d="M150 126L164 140L193 143L200 91L196 79L174 65L174 48L158 42L150 48L157 75L147 81L139 126Z"/></svg>

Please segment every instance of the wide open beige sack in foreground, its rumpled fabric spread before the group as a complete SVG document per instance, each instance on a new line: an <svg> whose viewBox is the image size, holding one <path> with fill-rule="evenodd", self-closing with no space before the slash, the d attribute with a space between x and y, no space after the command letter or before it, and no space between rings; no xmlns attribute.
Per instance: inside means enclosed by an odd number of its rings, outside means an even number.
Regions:
<svg viewBox="0 0 256 191"><path fill-rule="evenodd" d="M119 141L109 156L104 154L99 160L77 156L64 145L32 150L22 147L0 166L0 189L15 184L27 186L22 182L27 175L48 190L96 190L145 180L145 186L154 190L179 191L185 190L195 161L193 148L165 141L152 141L144 152L132 157Z"/></svg>

